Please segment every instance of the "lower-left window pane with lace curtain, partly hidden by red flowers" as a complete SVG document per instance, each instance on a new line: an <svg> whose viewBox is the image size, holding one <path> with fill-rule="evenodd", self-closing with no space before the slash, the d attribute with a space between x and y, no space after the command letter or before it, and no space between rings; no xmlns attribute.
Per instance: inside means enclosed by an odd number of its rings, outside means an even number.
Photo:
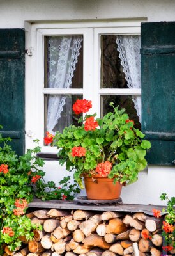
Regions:
<svg viewBox="0 0 175 256"><path fill-rule="evenodd" d="M62 132L70 124L79 125L81 115L75 115L72 106L82 95L45 95L45 132Z"/></svg>

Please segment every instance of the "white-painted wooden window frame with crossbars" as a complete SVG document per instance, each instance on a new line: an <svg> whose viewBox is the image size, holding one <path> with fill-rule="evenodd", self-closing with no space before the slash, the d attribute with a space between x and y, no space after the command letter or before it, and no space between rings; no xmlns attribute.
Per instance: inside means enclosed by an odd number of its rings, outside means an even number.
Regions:
<svg viewBox="0 0 175 256"><path fill-rule="evenodd" d="M43 146L45 94L83 94L92 100L91 113L100 116L100 95L141 95L141 89L100 88L100 35L139 35L141 22L145 20L109 20L96 22L57 22L26 25L26 45L33 55L26 56L26 148L33 148L33 139L40 140L42 152L56 152L55 147ZM84 36L83 89L44 88L44 36ZM91 52L91 54L90 54Z"/></svg>

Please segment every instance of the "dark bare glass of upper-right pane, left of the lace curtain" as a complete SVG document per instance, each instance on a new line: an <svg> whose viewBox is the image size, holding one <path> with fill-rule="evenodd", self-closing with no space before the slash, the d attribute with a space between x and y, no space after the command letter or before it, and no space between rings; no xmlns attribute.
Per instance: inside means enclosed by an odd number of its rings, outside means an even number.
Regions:
<svg viewBox="0 0 175 256"><path fill-rule="evenodd" d="M116 35L101 36L101 88L128 88L116 38Z"/></svg>

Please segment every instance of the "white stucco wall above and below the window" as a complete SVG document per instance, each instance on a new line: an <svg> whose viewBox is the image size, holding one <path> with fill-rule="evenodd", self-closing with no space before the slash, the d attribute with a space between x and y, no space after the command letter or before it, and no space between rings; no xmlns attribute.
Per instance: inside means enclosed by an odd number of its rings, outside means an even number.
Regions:
<svg viewBox="0 0 175 256"><path fill-rule="evenodd" d="M149 22L174 21L174 0L0 0L0 28L24 28L24 22L60 20L141 19ZM68 173L48 161L46 179L56 181ZM128 204L164 205L162 192L175 195L175 166L148 166L139 181L123 188L121 197Z"/></svg>

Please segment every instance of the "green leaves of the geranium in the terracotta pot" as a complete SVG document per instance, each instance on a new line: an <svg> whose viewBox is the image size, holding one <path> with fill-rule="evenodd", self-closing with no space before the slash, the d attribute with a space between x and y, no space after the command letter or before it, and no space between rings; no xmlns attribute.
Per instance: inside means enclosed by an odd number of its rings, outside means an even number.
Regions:
<svg viewBox="0 0 175 256"><path fill-rule="evenodd" d="M111 103L110 106L113 106ZM56 132L54 143L59 149L59 163L65 164L68 170L74 170L74 178L82 188L82 175L91 174L98 163L109 161L112 170L109 178L115 177L115 182L132 184L137 180L138 173L146 167L146 150L151 148L147 140L142 140L144 134L135 129L132 120L129 120L125 109L114 107L114 112L107 113L96 121L99 129L86 131L84 124L79 127L70 125L63 133ZM86 122L81 117L79 123ZM86 149L86 156L73 157L73 147Z"/></svg>

